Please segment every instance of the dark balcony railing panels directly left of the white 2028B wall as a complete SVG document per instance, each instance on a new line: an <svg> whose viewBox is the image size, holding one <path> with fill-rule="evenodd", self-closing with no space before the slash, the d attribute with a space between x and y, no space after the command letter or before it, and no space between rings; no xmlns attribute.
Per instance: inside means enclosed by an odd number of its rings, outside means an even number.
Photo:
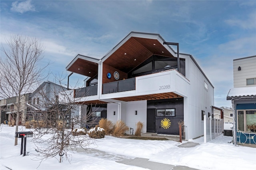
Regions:
<svg viewBox="0 0 256 170"><path fill-rule="evenodd" d="M136 82L135 78L132 78L132 79L114 81L111 83L105 83L102 86L103 88L102 94L135 90L136 89L135 82Z"/></svg>

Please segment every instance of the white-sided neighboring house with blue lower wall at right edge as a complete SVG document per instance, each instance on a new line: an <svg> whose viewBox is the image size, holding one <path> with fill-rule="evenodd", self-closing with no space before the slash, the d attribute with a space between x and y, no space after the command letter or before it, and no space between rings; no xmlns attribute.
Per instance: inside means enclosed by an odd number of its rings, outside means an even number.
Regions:
<svg viewBox="0 0 256 170"><path fill-rule="evenodd" d="M240 140L253 143L256 133L251 133L248 125L256 125L256 55L234 59L233 73L234 88L228 92L227 100L232 101L236 113L233 115L235 129L242 132Z"/></svg>

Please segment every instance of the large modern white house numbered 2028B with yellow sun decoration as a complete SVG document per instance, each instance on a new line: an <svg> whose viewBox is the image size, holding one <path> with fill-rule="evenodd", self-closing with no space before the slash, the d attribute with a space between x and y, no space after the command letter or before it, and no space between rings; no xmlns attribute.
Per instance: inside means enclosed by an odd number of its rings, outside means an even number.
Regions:
<svg viewBox="0 0 256 170"><path fill-rule="evenodd" d="M178 135L184 121L186 139L204 135L214 87L192 55L164 43L159 34L131 32L101 59L78 54L66 70L89 78L75 102L134 131L141 121L143 133Z"/></svg>

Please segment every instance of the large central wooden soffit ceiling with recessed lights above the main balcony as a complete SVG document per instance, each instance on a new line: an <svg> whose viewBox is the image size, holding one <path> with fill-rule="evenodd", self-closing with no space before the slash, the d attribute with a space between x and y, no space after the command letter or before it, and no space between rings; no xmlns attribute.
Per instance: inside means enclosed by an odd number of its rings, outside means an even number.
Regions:
<svg viewBox="0 0 256 170"><path fill-rule="evenodd" d="M103 64L110 65L111 67L128 73L153 54L173 57L158 40L131 37L112 53Z"/></svg>

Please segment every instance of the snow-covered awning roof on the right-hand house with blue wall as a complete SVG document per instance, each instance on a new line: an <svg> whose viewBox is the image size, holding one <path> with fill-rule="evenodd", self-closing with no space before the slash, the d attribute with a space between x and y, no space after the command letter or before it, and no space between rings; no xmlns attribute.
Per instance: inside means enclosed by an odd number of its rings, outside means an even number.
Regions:
<svg viewBox="0 0 256 170"><path fill-rule="evenodd" d="M232 88L228 92L227 100L239 97L256 97L256 86Z"/></svg>

